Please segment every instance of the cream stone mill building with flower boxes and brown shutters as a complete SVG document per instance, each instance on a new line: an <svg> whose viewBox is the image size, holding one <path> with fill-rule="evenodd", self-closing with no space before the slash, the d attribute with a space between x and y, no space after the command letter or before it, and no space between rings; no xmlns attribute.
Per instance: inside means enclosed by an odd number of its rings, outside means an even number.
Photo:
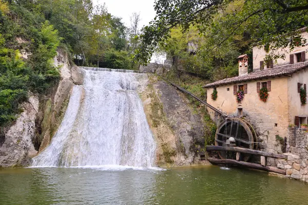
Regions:
<svg viewBox="0 0 308 205"><path fill-rule="evenodd" d="M204 86L208 104L229 117L244 117L253 124L260 148L266 152L285 151L281 139L288 137L288 127L307 124L308 105L303 105L300 97L301 92L306 93L308 84L308 33L303 30L301 36L307 39L307 44L292 51L279 50L279 54L285 54L284 59L265 60L268 53L264 47L255 46L253 72L248 73L248 56L240 55L239 76ZM211 97L214 90L216 99ZM243 99L238 101L240 92ZM268 94L265 100L261 100L260 92ZM210 109L208 112L212 119L218 120L216 112Z"/></svg>

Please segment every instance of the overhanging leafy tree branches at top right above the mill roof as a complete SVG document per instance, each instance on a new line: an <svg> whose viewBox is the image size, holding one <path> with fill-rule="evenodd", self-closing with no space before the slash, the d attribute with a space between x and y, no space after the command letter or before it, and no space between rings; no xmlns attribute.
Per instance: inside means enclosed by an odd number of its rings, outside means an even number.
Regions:
<svg viewBox="0 0 308 205"><path fill-rule="evenodd" d="M230 10L230 3L237 4L237 7ZM218 34L215 45L208 49L216 49L230 37L246 31L251 36L251 44L271 45L274 51L304 44L296 30L308 25L308 3L297 0L158 0L155 10L154 20L142 29L141 46L135 54L136 59L145 63L175 26L185 31L196 25L201 34L213 26L220 27L219 31L225 35ZM219 13L224 15L214 19ZM269 55L283 57L274 52Z"/></svg>

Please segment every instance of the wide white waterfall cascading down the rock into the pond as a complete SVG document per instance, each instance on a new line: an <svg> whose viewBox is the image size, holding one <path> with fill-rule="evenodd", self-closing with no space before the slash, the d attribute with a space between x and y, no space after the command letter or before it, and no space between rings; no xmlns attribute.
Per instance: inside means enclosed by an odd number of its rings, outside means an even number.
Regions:
<svg viewBox="0 0 308 205"><path fill-rule="evenodd" d="M136 92L140 74L120 71L83 69L83 85L73 87L62 124L32 166L155 166L155 140Z"/></svg>

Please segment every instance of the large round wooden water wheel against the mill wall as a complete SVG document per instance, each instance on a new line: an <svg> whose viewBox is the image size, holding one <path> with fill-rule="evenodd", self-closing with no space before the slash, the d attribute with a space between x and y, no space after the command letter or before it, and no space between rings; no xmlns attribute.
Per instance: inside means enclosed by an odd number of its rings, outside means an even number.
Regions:
<svg viewBox="0 0 308 205"><path fill-rule="evenodd" d="M248 121L242 118L226 118L218 126L215 135L216 146L228 146L226 140L230 137L235 138L236 147L257 149L258 144L254 143L257 141L256 132ZM221 159L235 159L235 153L218 152ZM242 155L242 160L247 161L250 155Z"/></svg>

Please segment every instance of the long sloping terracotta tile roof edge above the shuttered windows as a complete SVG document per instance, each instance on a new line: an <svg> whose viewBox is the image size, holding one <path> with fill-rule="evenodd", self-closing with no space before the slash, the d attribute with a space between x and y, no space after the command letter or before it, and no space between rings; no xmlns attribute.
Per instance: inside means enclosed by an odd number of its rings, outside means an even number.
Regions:
<svg viewBox="0 0 308 205"><path fill-rule="evenodd" d="M229 78L225 78L222 80L218 80L214 83L205 85L204 88L239 83L242 81L261 79L265 77L276 77L276 76L288 75L288 74L292 74L296 71L299 71L307 67L308 67L308 61L304 61L302 63L291 64L291 65L288 64L284 66L278 66L278 67L274 67L270 69L254 71L254 72L248 73L247 75L243 75L243 76L229 77Z"/></svg>

